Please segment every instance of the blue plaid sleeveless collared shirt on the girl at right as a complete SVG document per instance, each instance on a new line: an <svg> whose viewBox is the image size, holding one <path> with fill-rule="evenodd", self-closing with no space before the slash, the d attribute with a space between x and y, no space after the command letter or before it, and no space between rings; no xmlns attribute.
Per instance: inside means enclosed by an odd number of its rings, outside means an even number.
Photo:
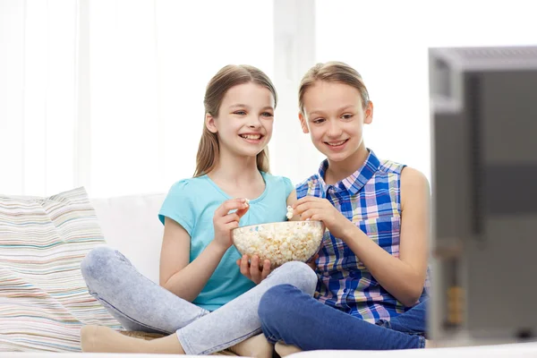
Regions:
<svg viewBox="0 0 537 358"><path fill-rule="evenodd" d="M298 198L311 195L328 199L346 218L367 234L374 243L399 257L401 226L400 180L405 166L379 161L372 150L363 166L334 185L324 182L328 161L319 173L296 187ZM316 298L321 303L345 311L371 323L408 310L371 276L354 252L328 231L317 260ZM422 297L430 286L429 272Z"/></svg>

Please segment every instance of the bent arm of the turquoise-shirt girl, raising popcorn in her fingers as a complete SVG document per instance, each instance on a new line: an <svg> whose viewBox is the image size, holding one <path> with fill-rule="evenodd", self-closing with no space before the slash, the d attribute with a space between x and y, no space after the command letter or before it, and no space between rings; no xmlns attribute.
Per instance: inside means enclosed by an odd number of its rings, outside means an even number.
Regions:
<svg viewBox="0 0 537 358"><path fill-rule="evenodd" d="M238 210L228 214L232 209ZM190 264L190 235L183 226L166 217L160 253L160 286L189 302L198 297L231 246L231 230L238 226L246 211L243 199L224 202L215 211L215 239Z"/></svg>

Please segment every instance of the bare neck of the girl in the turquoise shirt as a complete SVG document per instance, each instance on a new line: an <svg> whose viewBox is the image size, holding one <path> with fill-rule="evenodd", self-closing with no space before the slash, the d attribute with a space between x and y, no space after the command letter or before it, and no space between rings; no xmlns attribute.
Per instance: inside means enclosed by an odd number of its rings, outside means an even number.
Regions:
<svg viewBox="0 0 537 358"><path fill-rule="evenodd" d="M256 157L240 157L220 151L217 165L210 171L209 177L218 182L247 185L260 177Z"/></svg>

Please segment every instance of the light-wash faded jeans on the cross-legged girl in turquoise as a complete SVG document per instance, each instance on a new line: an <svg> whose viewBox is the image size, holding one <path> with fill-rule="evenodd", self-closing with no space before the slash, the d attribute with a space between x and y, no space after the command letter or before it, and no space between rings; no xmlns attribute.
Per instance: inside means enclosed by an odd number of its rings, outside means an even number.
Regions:
<svg viewBox="0 0 537 358"><path fill-rule="evenodd" d="M260 333L258 307L270 287L289 284L312 295L317 284L308 265L287 262L260 285L210 312L158 286L119 251L106 246L90 251L81 262L81 271L90 294L125 329L176 332L186 354L211 354Z"/></svg>

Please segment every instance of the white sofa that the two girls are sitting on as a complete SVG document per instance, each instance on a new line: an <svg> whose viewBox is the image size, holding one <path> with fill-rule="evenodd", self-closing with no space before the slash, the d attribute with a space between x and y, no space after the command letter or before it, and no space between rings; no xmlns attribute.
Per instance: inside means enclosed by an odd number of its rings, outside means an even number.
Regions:
<svg viewBox="0 0 537 358"><path fill-rule="evenodd" d="M92 204L107 244L120 250L143 275L158 282L158 258L163 226L158 221L158 209L165 194L134 195L109 199L94 199ZM316 328L317 329L317 328ZM106 358L124 354L81 353L1 353L2 358ZM155 354L129 354L130 357L157 357ZM326 357L537 357L537 343L488 345L478 347L438 348L385 352L313 351L296 354L303 358Z"/></svg>

